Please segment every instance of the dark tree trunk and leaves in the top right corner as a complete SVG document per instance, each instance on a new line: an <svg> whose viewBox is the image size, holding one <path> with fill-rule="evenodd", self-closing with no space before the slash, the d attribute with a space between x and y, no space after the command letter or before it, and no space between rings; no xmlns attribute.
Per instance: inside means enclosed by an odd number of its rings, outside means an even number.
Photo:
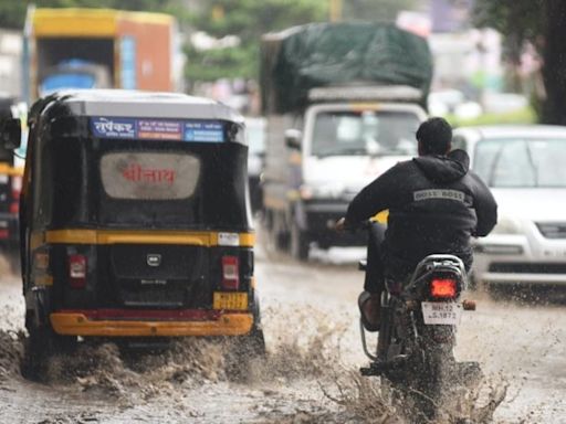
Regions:
<svg viewBox="0 0 566 424"><path fill-rule="evenodd" d="M507 59L521 63L526 42L543 59L545 95L537 112L544 124L566 125L566 1L476 0L479 25L491 26L505 36Z"/></svg>

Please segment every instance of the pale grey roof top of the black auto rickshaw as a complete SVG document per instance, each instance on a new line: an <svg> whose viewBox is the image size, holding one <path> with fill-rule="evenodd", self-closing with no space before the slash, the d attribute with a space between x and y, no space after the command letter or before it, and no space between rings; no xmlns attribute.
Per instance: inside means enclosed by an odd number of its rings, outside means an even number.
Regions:
<svg viewBox="0 0 566 424"><path fill-rule="evenodd" d="M180 93L127 89L62 91L51 96L76 116L213 119L243 124L243 117L219 102Z"/></svg>

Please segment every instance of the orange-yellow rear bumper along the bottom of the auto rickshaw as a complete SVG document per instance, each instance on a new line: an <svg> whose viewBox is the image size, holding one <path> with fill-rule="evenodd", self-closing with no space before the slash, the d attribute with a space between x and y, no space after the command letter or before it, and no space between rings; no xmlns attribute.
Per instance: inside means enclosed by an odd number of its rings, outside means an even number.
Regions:
<svg viewBox="0 0 566 424"><path fill-rule="evenodd" d="M220 314L206 320L91 319L81 312L54 312L51 326L59 335L93 337L244 336L252 330L253 315Z"/></svg>

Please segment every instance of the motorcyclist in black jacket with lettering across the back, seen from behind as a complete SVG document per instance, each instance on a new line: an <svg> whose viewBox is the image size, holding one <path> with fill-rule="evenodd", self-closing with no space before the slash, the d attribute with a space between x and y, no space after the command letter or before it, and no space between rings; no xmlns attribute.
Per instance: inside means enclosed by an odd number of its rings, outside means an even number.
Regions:
<svg viewBox="0 0 566 424"><path fill-rule="evenodd" d="M452 128L430 118L417 131L419 157L397 163L352 201L342 231L388 210L387 230L371 225L364 292L358 304L366 329L379 330L380 294L388 279L405 279L430 254L459 256L469 271L471 236L485 236L497 221L497 204L469 169L463 150L452 150Z"/></svg>

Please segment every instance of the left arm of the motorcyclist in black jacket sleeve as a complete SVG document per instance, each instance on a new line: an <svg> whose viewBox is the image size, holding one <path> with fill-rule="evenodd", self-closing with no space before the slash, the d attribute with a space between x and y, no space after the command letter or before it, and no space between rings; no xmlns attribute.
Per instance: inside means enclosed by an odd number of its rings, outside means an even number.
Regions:
<svg viewBox="0 0 566 424"><path fill-rule="evenodd" d="M354 198L346 212L346 226L356 226L395 203L400 181L398 171L399 165L390 168Z"/></svg>

